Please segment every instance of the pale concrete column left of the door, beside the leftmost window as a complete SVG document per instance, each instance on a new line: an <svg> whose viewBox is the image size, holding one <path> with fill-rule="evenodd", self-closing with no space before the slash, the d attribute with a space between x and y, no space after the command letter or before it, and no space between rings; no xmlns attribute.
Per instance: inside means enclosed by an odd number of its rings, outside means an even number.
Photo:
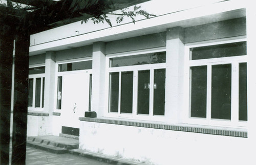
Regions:
<svg viewBox="0 0 256 165"><path fill-rule="evenodd" d="M54 110L54 89L55 89L55 52L46 52L46 73L45 73L45 105L44 112L52 115Z"/></svg>

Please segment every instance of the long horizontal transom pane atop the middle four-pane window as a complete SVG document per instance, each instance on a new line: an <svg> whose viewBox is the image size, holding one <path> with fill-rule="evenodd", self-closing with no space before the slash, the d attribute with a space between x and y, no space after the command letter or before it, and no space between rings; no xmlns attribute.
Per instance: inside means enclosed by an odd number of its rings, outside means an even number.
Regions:
<svg viewBox="0 0 256 165"><path fill-rule="evenodd" d="M165 52L148 53L148 54L142 54L142 55L136 55L136 56L116 57L116 58L111 58L110 60L111 60L110 67L165 63L166 53Z"/></svg>

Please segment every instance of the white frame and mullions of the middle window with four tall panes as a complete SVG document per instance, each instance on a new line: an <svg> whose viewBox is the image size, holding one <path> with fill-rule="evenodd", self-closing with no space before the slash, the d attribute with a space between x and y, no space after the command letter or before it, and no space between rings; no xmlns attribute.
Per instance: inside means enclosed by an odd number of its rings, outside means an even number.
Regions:
<svg viewBox="0 0 256 165"><path fill-rule="evenodd" d="M147 53L156 53L156 52L166 52L165 47L147 49L140 51L131 51L125 53L116 53L106 55L106 75L105 75L105 113L106 117L120 117L120 118L130 118L138 120L152 120L152 121L163 121L165 115L153 115L153 99L154 99L154 69L166 69L166 63L157 63L157 64L144 64L144 65L130 65L130 66L119 66L119 67L110 67L110 59L116 57L125 57L125 56L136 56ZM137 114L137 90L138 90L138 71L139 70L150 70L150 111L149 114ZM133 110L130 114L124 114L120 112L120 98L121 98L121 72L133 71ZM110 89L110 73L119 72L119 101L118 101L118 112L109 112L109 89Z"/></svg>

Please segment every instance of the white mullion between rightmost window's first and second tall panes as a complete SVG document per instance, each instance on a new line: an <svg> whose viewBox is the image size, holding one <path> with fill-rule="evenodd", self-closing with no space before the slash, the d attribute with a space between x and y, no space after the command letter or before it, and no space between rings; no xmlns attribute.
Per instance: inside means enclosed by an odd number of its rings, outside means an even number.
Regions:
<svg viewBox="0 0 256 165"><path fill-rule="evenodd" d="M207 101L206 101L206 119L211 119L211 65L207 65Z"/></svg>

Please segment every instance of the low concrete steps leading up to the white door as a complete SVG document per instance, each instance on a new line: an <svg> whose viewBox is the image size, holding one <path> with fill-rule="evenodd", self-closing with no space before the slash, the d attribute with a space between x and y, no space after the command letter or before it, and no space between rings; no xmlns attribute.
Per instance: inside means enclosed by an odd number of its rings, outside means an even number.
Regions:
<svg viewBox="0 0 256 165"><path fill-rule="evenodd" d="M60 136L30 136L27 145L46 150L56 154L68 153L69 150L78 149L79 140Z"/></svg>

